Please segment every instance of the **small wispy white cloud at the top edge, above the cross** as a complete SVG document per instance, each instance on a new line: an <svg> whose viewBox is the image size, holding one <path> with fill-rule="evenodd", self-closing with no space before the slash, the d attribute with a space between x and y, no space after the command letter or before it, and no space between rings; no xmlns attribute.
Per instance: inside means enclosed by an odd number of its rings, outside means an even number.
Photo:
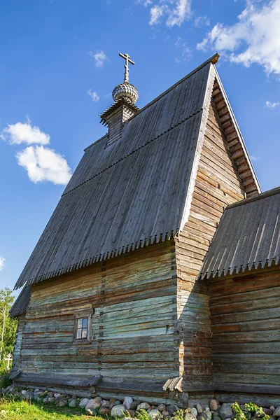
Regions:
<svg viewBox="0 0 280 420"><path fill-rule="evenodd" d="M160 5L155 4L151 8L150 25L157 25L162 16L165 16L167 27L181 26L190 15L190 0L161 0Z"/></svg>

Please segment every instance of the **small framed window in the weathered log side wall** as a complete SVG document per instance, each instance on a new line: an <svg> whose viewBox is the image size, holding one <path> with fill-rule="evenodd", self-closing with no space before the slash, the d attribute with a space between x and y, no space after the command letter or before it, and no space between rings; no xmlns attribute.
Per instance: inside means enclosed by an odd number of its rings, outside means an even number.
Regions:
<svg viewBox="0 0 280 420"><path fill-rule="evenodd" d="M84 309L74 313L73 343L86 344L92 341L92 314L93 309Z"/></svg>

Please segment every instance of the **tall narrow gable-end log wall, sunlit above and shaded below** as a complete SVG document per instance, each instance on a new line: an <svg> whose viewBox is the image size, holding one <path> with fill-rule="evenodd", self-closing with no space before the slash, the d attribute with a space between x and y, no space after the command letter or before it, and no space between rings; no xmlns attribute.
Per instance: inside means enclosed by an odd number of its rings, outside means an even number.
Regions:
<svg viewBox="0 0 280 420"><path fill-rule="evenodd" d="M185 391L211 389L211 325L207 283L197 281L223 210L244 188L212 99L188 222L176 239L179 363Z"/></svg>

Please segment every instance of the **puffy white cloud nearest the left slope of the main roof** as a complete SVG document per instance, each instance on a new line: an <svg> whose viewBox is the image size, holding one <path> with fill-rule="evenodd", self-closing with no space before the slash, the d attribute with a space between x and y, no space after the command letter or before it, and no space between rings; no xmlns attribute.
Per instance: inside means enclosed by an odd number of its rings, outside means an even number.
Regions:
<svg viewBox="0 0 280 420"><path fill-rule="evenodd" d="M71 178L71 169L59 153L43 146L28 146L16 153L18 165L27 170L29 179L38 183L50 181L65 185Z"/></svg>

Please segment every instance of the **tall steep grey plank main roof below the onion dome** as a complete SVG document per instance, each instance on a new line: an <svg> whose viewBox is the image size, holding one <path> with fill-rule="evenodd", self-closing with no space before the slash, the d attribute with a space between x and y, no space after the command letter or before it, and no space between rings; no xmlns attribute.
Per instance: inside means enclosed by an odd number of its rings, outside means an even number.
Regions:
<svg viewBox="0 0 280 420"><path fill-rule="evenodd" d="M216 56L127 120L120 140L106 147L104 136L85 149L16 288L170 239L181 230L218 78L212 62ZM258 191L237 137L251 189Z"/></svg>

